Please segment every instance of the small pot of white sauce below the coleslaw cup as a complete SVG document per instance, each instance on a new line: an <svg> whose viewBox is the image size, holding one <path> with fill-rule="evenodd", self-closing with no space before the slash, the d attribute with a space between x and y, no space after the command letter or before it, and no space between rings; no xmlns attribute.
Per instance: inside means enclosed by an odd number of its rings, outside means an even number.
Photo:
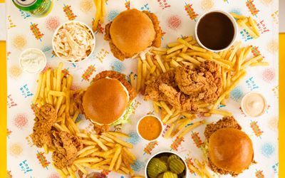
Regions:
<svg viewBox="0 0 285 178"><path fill-rule="evenodd" d="M28 73L39 73L46 66L46 56L37 48L28 48L21 53L20 66Z"/></svg>

